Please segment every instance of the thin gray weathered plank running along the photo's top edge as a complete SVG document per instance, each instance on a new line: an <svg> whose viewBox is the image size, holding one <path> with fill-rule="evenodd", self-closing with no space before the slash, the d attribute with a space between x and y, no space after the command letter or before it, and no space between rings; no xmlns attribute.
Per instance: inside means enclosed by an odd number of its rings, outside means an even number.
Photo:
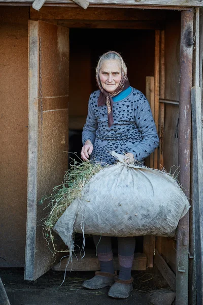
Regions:
<svg viewBox="0 0 203 305"><path fill-rule="evenodd" d="M33 0L4 0L3 2L14 3L32 3ZM48 0L48 3L72 3L71 0ZM133 5L134 7L142 6L165 6L165 7L201 7L203 0L90 0L90 3L94 4L118 4L118 5Z"/></svg>

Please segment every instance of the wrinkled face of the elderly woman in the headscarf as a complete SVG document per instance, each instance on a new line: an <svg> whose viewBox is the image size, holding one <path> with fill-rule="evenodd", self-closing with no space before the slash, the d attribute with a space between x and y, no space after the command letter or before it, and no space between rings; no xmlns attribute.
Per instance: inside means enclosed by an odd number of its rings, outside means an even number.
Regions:
<svg viewBox="0 0 203 305"><path fill-rule="evenodd" d="M114 92L121 81L121 65L118 60L106 60L99 70L99 78L103 88Z"/></svg>

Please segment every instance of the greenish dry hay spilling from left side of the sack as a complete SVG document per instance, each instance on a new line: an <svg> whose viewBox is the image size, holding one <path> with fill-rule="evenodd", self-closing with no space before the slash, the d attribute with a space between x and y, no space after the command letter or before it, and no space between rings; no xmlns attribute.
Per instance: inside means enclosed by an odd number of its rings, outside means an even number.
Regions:
<svg viewBox="0 0 203 305"><path fill-rule="evenodd" d="M98 173L101 169L110 167L110 165L99 162L87 161L78 163L73 160L73 164L70 165L70 169L65 173L64 181L62 185L55 187L50 196L44 196L41 200L41 204L46 204L44 209L49 208L49 212L43 222L43 235L47 241L47 246L52 243L54 254L57 251L54 244L54 236L52 229L55 226L58 219L62 216L67 207L77 198L81 196L81 192L86 184L90 181L91 177ZM51 249L50 249L51 251Z"/></svg>

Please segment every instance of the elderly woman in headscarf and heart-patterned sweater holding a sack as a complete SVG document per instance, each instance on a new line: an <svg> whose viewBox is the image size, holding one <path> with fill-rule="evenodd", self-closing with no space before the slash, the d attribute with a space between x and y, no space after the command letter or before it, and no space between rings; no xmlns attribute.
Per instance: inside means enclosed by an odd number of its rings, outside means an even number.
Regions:
<svg viewBox="0 0 203 305"><path fill-rule="evenodd" d="M89 98L88 115L83 128L81 157L114 164L114 150L125 153L128 162L143 163L158 146L159 139L151 109L145 96L129 85L127 68L120 54L103 54L96 67L99 90ZM93 236L100 271L83 283L88 289L111 286L108 295L126 298L132 291L131 268L135 237L118 237L119 275L113 265L111 237Z"/></svg>

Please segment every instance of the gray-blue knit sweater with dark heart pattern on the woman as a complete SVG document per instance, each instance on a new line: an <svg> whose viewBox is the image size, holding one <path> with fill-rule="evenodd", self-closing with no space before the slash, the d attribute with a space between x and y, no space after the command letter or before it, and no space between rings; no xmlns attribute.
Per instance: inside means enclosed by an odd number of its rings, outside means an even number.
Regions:
<svg viewBox="0 0 203 305"><path fill-rule="evenodd" d="M100 90L89 98L88 115L82 132L83 145L90 140L93 144L91 158L114 164L112 150L118 154L132 153L134 159L143 159L153 153L159 144L156 126L145 96L137 89L123 100L113 103L114 124L109 128L107 106L97 106Z"/></svg>

